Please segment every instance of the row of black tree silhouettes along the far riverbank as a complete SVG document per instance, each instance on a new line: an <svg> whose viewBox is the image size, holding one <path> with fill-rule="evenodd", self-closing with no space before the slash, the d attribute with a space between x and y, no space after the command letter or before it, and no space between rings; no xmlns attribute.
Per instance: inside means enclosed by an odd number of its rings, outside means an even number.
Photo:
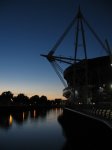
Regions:
<svg viewBox="0 0 112 150"><path fill-rule="evenodd" d="M54 107L61 106L61 99L48 100L46 96L42 95L39 97L38 95L34 95L32 97L28 97L23 93L18 94L17 96L13 96L13 93L10 91L3 92L0 95L0 107L4 106L33 106L33 107ZM10 107L11 108L11 107ZM30 107L28 107L30 108Z"/></svg>

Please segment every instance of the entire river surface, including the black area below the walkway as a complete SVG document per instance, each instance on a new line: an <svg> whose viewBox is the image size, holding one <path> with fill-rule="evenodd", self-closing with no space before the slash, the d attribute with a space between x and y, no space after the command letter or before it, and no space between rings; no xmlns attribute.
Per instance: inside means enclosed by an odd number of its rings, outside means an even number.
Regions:
<svg viewBox="0 0 112 150"><path fill-rule="evenodd" d="M62 108L0 112L0 150L108 150L111 139L105 124Z"/></svg>

